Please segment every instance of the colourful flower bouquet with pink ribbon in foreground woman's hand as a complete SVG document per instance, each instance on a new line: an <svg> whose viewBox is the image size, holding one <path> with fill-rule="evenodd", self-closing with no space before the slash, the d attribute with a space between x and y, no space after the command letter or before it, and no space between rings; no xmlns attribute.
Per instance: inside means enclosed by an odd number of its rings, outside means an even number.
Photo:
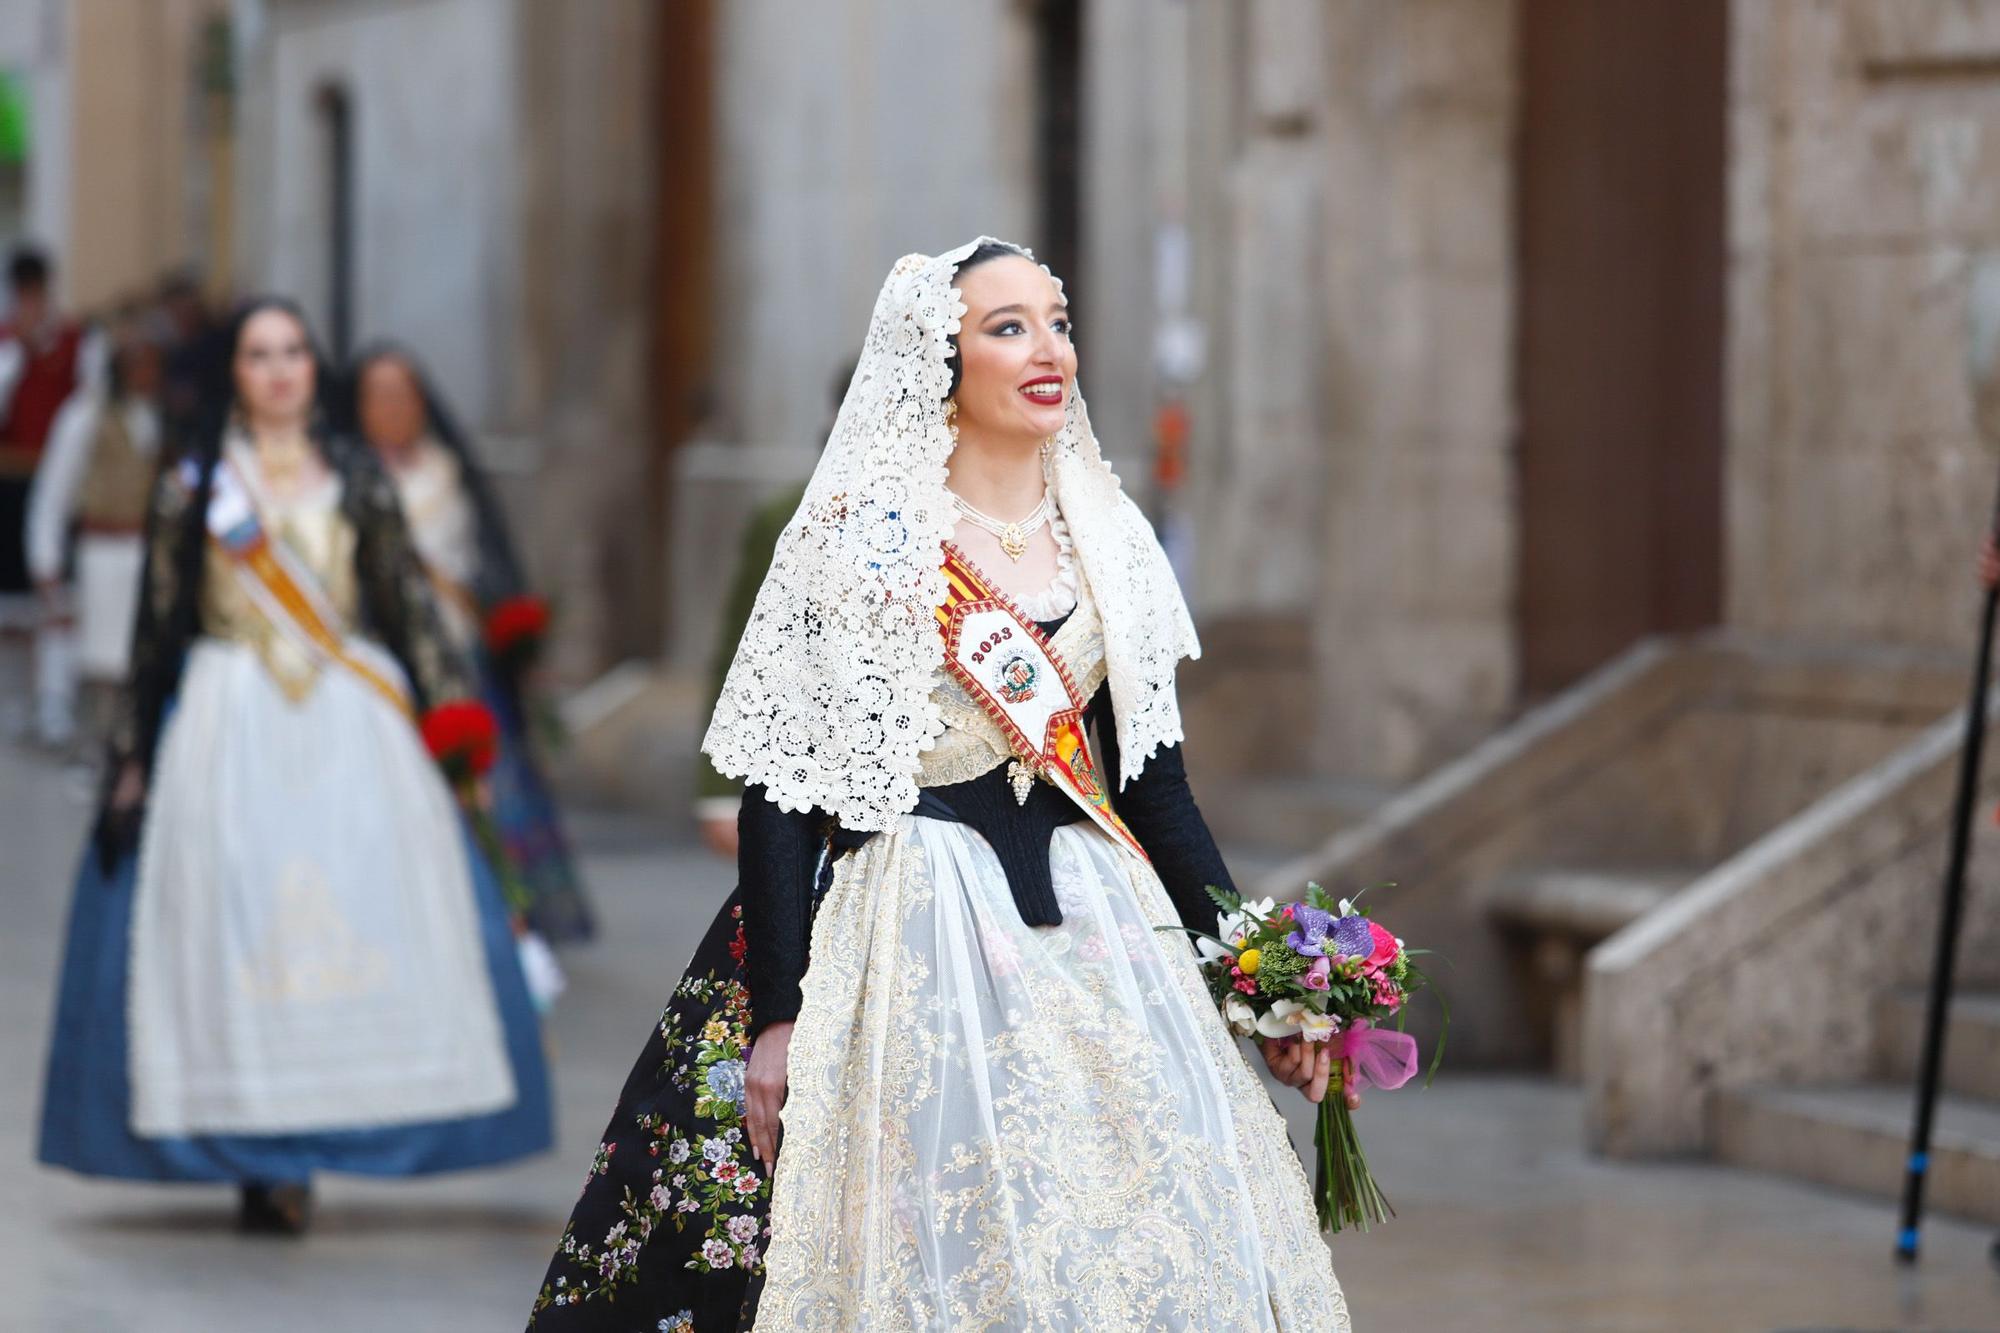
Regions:
<svg viewBox="0 0 2000 1333"><path fill-rule="evenodd" d="M1194 933L1202 975L1222 1005L1222 1017L1240 1037L1268 1041L1332 1043L1336 1081L1356 1091L1398 1089L1416 1075L1416 1039L1402 1031L1410 997L1430 985L1412 963L1424 949L1404 943L1368 911L1332 899L1318 885L1282 907L1272 899L1246 903L1210 889L1220 907L1216 935ZM1356 895L1358 897L1358 895ZM1438 997L1444 1005L1444 997ZM1382 1025L1394 1021L1396 1029ZM1450 1009L1444 1011L1450 1027ZM1444 1037L1430 1057L1430 1073L1444 1057ZM1328 1089L1314 1129L1318 1181L1314 1203L1320 1227L1368 1229L1396 1215L1368 1171L1354 1117L1338 1089Z"/></svg>

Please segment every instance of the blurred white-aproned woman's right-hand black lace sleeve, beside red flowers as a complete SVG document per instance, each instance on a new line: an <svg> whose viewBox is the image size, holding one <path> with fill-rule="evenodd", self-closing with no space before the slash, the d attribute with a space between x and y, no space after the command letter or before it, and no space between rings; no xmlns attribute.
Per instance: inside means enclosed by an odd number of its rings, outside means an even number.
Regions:
<svg viewBox="0 0 2000 1333"><path fill-rule="evenodd" d="M472 673L438 618L430 578L396 500L396 482L362 448L336 444L328 454L346 484L368 628L402 662L418 715L440 703L476 697Z"/></svg>

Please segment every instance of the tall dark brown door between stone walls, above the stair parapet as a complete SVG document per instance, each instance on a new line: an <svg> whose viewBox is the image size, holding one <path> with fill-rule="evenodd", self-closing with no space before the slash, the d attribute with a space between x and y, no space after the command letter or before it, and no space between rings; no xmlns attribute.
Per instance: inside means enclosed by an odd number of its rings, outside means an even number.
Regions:
<svg viewBox="0 0 2000 1333"><path fill-rule="evenodd" d="M1726 0L1520 6L1520 654L1722 614Z"/></svg>

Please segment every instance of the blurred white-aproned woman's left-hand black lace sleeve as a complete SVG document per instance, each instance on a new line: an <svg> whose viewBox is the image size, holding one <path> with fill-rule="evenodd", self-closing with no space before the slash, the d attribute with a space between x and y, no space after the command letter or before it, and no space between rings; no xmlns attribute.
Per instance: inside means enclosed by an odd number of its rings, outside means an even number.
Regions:
<svg viewBox="0 0 2000 1333"><path fill-rule="evenodd" d="M110 735L110 781L136 759L148 773L166 703L180 687L180 666L196 632L200 546L190 552L192 492L178 468L162 468L146 504L146 564L132 622L132 671L118 697ZM190 558L192 556L192 558Z"/></svg>

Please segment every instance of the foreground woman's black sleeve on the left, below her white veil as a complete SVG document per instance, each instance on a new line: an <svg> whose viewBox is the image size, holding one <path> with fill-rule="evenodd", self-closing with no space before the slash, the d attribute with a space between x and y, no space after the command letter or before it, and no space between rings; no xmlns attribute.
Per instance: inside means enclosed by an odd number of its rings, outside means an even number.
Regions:
<svg viewBox="0 0 2000 1333"><path fill-rule="evenodd" d="M744 789L736 815L736 879L744 901L752 1035L798 1017L824 827L826 817L818 813L780 811L762 787Z"/></svg>

